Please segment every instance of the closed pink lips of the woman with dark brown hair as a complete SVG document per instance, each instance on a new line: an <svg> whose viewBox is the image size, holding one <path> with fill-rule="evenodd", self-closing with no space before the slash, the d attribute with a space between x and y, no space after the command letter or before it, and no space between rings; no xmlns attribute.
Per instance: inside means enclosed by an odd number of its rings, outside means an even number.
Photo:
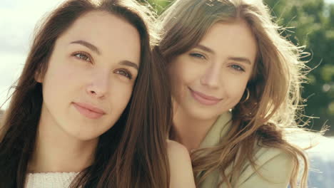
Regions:
<svg viewBox="0 0 334 188"><path fill-rule="evenodd" d="M88 117L90 119L98 119L106 114L100 108L96 108L93 105L89 105L86 103L73 103L74 108L81 113L81 115Z"/></svg>

